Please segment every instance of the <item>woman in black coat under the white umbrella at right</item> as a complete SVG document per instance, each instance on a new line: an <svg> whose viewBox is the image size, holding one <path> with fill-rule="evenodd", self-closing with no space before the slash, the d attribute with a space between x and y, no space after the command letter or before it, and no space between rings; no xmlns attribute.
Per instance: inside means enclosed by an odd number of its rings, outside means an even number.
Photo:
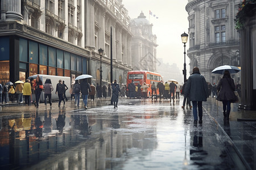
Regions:
<svg viewBox="0 0 256 170"><path fill-rule="evenodd" d="M216 99L222 101L224 120L229 121L230 104L232 101L236 100L236 95L234 94L234 80L231 78L228 70L224 72L223 77L220 79L220 82L218 82L217 90L219 92Z"/></svg>

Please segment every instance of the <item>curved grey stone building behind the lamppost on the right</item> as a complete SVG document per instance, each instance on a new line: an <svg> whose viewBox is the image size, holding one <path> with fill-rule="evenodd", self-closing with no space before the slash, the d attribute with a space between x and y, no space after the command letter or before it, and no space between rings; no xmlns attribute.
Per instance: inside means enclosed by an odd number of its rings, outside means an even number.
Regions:
<svg viewBox="0 0 256 170"><path fill-rule="evenodd" d="M189 0L185 7L189 21L190 73L197 66L208 82L217 83L222 75L211 71L221 65L241 66L239 36L234 19L239 0ZM240 75L232 74L235 83Z"/></svg>

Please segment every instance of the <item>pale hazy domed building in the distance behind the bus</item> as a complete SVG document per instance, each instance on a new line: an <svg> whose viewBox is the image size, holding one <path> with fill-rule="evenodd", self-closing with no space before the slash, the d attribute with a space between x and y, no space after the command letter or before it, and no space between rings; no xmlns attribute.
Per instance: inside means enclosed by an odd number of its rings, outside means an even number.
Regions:
<svg viewBox="0 0 256 170"><path fill-rule="evenodd" d="M156 71L156 35L152 34L152 26L143 12L130 22L133 38L131 39L131 55L133 70Z"/></svg>

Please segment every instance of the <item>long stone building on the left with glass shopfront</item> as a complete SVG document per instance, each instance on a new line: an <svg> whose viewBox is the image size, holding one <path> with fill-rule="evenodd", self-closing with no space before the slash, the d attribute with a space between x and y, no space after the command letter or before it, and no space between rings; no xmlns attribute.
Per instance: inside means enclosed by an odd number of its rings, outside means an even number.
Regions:
<svg viewBox="0 0 256 170"><path fill-rule="evenodd" d="M34 74L92 74L110 82L110 27L113 29L113 78L131 70L129 16L121 0L2 0L0 79L15 81ZM5 68L5 71L2 71ZM5 73L2 73L5 72Z"/></svg>

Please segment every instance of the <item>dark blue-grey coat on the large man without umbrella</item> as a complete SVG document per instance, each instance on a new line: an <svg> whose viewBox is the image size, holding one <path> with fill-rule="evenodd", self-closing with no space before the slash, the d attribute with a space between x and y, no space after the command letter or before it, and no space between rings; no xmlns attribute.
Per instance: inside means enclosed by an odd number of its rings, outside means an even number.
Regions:
<svg viewBox="0 0 256 170"><path fill-rule="evenodd" d="M203 75L193 73L189 76L185 87L185 95L189 95L191 101L207 101L208 87Z"/></svg>

